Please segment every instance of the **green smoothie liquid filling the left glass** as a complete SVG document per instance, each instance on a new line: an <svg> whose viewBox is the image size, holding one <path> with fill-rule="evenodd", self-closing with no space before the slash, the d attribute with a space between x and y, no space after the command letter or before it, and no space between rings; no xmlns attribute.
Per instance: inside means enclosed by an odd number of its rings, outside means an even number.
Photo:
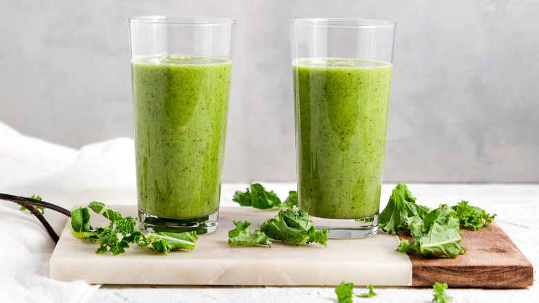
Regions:
<svg viewBox="0 0 539 303"><path fill-rule="evenodd" d="M218 210L232 62L154 55L131 60L138 207L167 218Z"/></svg>

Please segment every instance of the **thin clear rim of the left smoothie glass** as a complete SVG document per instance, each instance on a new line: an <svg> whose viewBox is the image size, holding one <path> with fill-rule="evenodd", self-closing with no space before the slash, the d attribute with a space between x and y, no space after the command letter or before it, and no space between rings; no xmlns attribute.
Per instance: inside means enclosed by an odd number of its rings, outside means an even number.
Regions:
<svg viewBox="0 0 539 303"><path fill-rule="evenodd" d="M222 17L151 15L127 18L129 22L170 26L226 26L236 24L236 20Z"/></svg>

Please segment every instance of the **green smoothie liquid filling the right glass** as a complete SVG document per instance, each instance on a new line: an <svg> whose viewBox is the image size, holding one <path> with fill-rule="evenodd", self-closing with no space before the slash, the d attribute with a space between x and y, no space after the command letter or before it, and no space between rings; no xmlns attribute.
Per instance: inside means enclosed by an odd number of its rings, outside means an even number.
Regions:
<svg viewBox="0 0 539 303"><path fill-rule="evenodd" d="M392 64L292 62L299 206L314 217L379 211Z"/></svg>

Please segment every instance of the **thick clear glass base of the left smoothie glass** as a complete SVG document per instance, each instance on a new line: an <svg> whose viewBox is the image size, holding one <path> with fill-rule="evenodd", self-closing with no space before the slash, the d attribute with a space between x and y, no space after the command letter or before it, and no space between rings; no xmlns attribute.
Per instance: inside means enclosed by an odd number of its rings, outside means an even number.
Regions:
<svg viewBox="0 0 539 303"><path fill-rule="evenodd" d="M209 234L217 229L219 210L198 218L158 217L138 209L138 228L144 232L191 232Z"/></svg>

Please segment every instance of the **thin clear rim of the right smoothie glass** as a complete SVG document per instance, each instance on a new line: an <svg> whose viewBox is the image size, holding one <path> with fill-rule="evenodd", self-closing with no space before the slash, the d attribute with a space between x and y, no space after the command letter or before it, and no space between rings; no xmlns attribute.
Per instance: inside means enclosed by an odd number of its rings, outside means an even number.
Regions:
<svg viewBox="0 0 539 303"><path fill-rule="evenodd" d="M290 20L291 24L303 26L350 27L350 28L394 28L393 21L355 18L299 18Z"/></svg>

